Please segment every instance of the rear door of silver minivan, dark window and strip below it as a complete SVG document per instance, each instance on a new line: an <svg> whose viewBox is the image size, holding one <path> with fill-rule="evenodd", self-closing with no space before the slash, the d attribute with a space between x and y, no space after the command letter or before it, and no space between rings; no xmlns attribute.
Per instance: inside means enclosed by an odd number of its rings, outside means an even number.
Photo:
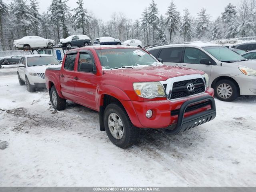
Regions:
<svg viewBox="0 0 256 192"><path fill-rule="evenodd" d="M170 66L180 66L182 60L183 47L163 48L158 56L163 60L163 64Z"/></svg>

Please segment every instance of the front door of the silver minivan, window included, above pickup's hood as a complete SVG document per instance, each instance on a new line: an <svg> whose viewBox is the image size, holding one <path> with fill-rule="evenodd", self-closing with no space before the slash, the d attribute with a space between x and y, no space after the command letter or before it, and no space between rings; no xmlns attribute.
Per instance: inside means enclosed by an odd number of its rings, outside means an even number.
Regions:
<svg viewBox="0 0 256 192"><path fill-rule="evenodd" d="M202 70L211 76L212 65L209 64L200 64L201 59L208 59L211 62L214 62L206 53L198 48L186 47L184 49L184 57L182 61L182 67L187 67L196 70Z"/></svg>

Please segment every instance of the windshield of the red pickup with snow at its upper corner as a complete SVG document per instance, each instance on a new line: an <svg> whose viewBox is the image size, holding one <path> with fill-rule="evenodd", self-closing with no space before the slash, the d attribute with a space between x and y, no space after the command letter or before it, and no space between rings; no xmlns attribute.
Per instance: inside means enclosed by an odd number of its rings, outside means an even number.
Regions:
<svg viewBox="0 0 256 192"><path fill-rule="evenodd" d="M120 48L96 50L104 69L125 68L139 65L152 65L158 62L154 57L140 49Z"/></svg>

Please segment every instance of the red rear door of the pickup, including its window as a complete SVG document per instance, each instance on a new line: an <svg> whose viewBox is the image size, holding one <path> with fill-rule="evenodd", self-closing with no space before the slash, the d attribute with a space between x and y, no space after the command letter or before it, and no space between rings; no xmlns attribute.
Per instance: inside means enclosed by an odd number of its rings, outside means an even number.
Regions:
<svg viewBox="0 0 256 192"><path fill-rule="evenodd" d="M69 52L66 55L65 63L60 71L60 86L62 88L62 95L70 100L74 100L74 77L76 72L74 71L76 63L77 52Z"/></svg>

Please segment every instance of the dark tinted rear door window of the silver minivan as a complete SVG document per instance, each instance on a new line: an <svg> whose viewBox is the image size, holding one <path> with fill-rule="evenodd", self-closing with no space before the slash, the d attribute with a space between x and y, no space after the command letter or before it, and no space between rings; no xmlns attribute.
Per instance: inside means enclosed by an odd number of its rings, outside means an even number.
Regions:
<svg viewBox="0 0 256 192"><path fill-rule="evenodd" d="M182 47L164 48L158 58L161 58L163 62L179 63L181 54Z"/></svg>

